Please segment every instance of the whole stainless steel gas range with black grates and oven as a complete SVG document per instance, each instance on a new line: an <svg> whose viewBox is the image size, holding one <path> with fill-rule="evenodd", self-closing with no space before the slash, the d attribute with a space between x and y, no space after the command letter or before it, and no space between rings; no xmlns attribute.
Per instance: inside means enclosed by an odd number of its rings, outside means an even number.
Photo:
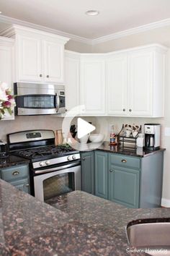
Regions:
<svg viewBox="0 0 170 256"><path fill-rule="evenodd" d="M80 153L69 145L55 147L52 130L7 135L9 152L30 160L30 194L39 200L81 190Z"/></svg>

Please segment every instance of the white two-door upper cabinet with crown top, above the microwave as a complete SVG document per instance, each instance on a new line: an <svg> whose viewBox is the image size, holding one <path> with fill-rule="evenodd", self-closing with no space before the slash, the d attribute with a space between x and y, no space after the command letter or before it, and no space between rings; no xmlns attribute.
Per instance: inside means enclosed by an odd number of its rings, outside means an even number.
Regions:
<svg viewBox="0 0 170 256"><path fill-rule="evenodd" d="M12 25L3 35L15 38L15 82L64 82L64 45L68 38L20 25Z"/></svg>

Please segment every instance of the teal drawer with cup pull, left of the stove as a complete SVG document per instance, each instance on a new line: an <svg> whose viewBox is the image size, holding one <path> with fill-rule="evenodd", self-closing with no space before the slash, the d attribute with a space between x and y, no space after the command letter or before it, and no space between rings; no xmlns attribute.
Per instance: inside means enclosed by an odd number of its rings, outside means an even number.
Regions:
<svg viewBox="0 0 170 256"><path fill-rule="evenodd" d="M4 179L6 182L22 179L27 176L29 176L28 165L12 166L10 168L1 169L1 179Z"/></svg>

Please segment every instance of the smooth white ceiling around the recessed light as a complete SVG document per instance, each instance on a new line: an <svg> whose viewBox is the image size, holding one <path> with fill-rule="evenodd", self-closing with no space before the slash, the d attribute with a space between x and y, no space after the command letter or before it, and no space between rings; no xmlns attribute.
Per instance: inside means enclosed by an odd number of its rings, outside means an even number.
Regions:
<svg viewBox="0 0 170 256"><path fill-rule="evenodd" d="M88 17L89 9L100 14ZM1 0L0 11L3 16L94 39L170 18L170 0Z"/></svg>

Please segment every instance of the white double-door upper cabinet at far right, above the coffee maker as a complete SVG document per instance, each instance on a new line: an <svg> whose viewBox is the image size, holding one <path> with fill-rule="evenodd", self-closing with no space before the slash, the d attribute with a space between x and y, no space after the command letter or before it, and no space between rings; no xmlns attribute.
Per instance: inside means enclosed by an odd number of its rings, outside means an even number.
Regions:
<svg viewBox="0 0 170 256"><path fill-rule="evenodd" d="M107 114L164 116L165 54L160 45L107 54Z"/></svg>

